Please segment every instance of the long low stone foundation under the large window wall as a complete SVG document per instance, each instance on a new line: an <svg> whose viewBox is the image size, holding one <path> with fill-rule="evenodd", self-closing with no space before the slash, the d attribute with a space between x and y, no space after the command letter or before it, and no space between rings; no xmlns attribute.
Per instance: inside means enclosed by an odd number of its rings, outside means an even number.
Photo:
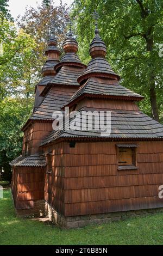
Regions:
<svg viewBox="0 0 163 256"><path fill-rule="evenodd" d="M49 220L57 224L59 227L66 229L81 228L88 224L110 223L125 220L128 217L146 216L157 212L163 213L163 208L64 217L55 211L51 205L45 202L45 214L49 217Z"/></svg>

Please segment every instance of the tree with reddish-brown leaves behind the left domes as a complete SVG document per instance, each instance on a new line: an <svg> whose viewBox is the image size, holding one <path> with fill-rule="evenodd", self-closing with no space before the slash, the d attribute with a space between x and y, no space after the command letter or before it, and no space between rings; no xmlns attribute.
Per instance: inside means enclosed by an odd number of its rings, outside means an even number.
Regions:
<svg viewBox="0 0 163 256"><path fill-rule="evenodd" d="M46 3L48 2L48 5ZM31 60L30 64L33 66L32 77L29 77L31 83L41 79L41 69L45 63L44 56L47 47L47 41L51 31L54 31L58 44L61 47L66 36L66 27L68 19L68 8L66 5L54 7L53 1L43 1L37 9L26 9L24 16L19 16L17 23L24 32L29 34L36 43L34 56L36 61ZM34 78L34 81L33 81Z"/></svg>

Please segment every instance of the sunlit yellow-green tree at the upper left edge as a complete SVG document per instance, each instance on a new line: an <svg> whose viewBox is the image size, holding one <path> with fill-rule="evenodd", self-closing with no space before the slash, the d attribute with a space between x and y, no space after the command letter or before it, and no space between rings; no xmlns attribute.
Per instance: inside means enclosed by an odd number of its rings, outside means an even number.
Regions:
<svg viewBox="0 0 163 256"><path fill-rule="evenodd" d="M3 34L1 34L1 54L0 54L0 88L2 93L0 99L7 96L22 95L27 96L27 87L29 93L29 84L27 84L27 72L33 71L32 60L36 62L34 49L36 47L34 39L23 29L17 32L14 23L7 20L3 22ZM1 25L0 25L1 28ZM30 94L33 95L33 88L30 88Z"/></svg>

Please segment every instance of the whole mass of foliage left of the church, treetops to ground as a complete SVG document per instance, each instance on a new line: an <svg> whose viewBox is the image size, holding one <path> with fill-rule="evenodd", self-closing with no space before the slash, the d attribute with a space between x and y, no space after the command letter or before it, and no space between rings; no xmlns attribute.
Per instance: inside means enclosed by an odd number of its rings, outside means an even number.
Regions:
<svg viewBox="0 0 163 256"><path fill-rule="evenodd" d="M55 27L61 45L68 10L63 5L53 7L51 0L43 1L19 17L17 28L7 19L7 2L3 1L0 16L0 168L10 180L9 162L21 155L21 127L32 114L34 87L41 79L49 33Z"/></svg>

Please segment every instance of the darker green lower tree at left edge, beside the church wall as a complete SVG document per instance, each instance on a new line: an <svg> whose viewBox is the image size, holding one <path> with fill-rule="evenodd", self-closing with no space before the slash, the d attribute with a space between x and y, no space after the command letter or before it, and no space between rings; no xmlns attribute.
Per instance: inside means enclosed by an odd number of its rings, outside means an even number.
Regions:
<svg viewBox="0 0 163 256"><path fill-rule="evenodd" d="M21 127L29 116L32 99L7 97L0 103L0 167L4 170L4 179L11 181L9 162L21 155Z"/></svg>

